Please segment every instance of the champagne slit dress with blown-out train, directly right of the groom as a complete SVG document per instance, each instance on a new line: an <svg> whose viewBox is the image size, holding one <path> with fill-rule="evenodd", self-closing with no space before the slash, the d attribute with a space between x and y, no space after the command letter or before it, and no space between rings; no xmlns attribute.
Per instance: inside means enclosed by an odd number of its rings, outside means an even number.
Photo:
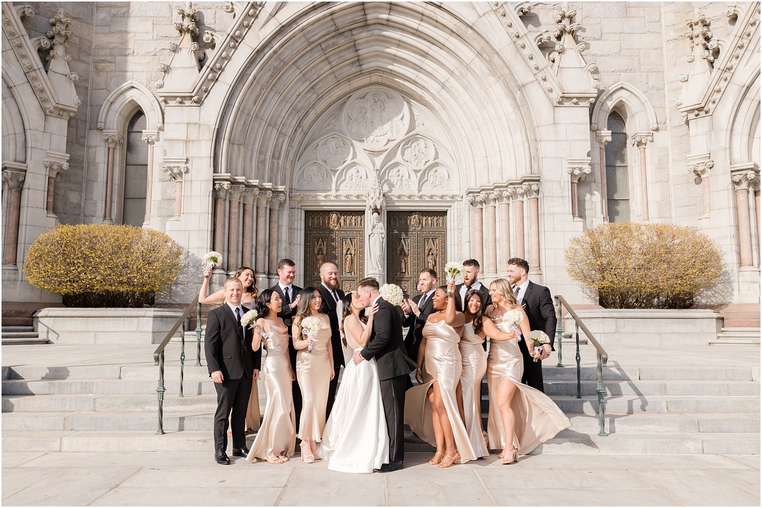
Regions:
<svg viewBox="0 0 762 508"><path fill-rule="evenodd" d="M463 370L463 360L460 357L458 342L460 336L444 320L440 322L427 321L422 330L426 338L424 350L424 384L414 386L405 392L405 424L422 440L431 446L437 446L434 436L434 424L431 421L431 402L427 397L428 389L439 383L442 401L447 411L450 426L453 427L455 446L460 454L461 462L476 459L466 426L460 418L456 387L460 382Z"/></svg>

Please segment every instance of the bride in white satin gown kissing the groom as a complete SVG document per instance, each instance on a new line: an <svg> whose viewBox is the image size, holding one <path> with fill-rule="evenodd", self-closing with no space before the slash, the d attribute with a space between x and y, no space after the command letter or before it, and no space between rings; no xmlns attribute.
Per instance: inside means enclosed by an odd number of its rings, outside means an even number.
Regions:
<svg viewBox="0 0 762 508"><path fill-rule="evenodd" d="M363 303L354 291L347 293L341 302L344 304L341 316L344 349L362 349L370 338L378 305L370 308L367 323L363 323L360 316ZM351 353L348 354L351 357ZM374 468L389 462L389 434L376 360L359 365L347 361L315 455L328 459L328 469L348 473L372 473Z"/></svg>

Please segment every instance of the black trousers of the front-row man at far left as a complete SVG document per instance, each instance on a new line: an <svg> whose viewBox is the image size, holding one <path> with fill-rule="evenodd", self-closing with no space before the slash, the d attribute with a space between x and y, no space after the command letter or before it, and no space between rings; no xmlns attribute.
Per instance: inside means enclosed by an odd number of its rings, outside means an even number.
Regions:
<svg viewBox="0 0 762 508"><path fill-rule="evenodd" d="M214 388L217 390L217 411L214 413L215 452L225 452L228 448L228 418L230 418L233 448L240 449L246 446L244 427L252 384L254 383L251 375L246 374L241 379L223 379L222 383L214 383Z"/></svg>

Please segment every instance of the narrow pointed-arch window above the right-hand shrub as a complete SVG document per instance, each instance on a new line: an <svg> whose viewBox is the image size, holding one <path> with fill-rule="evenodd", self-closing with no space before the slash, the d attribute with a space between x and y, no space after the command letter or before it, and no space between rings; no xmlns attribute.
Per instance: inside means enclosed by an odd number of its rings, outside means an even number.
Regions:
<svg viewBox="0 0 762 508"><path fill-rule="evenodd" d="M629 171L627 170L627 133L622 116L609 115L607 129L611 141L606 145L606 194L609 222L629 221Z"/></svg>

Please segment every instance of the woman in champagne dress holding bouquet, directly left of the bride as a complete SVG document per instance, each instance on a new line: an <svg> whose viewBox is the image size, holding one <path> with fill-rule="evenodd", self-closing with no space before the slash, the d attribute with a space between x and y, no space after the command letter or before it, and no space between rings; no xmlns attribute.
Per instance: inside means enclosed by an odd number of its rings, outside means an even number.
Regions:
<svg viewBox="0 0 762 508"><path fill-rule="evenodd" d="M312 463L325 429L325 406L328 403L328 385L333 379L333 351L331 350L331 322L320 313L321 296L315 287L305 287L296 308L293 322L293 347L296 348L296 379L302 389L302 414L299 417L299 439L302 440L302 460ZM300 326L303 319L316 317L322 328L315 334L312 352L309 340Z"/></svg>

